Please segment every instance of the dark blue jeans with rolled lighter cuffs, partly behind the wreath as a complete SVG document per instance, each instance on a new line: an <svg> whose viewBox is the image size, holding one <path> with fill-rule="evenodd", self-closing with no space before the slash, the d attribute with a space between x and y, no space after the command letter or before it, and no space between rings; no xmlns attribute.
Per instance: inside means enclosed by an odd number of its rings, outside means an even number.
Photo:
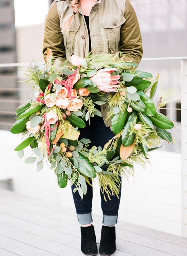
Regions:
<svg viewBox="0 0 187 256"><path fill-rule="evenodd" d="M79 139L87 138L94 142L95 146L101 146L103 148L104 144L110 140L114 134L111 131L110 127L106 127L103 118L95 116L91 118L91 125L79 129L81 134ZM90 145L90 146L93 146ZM72 192L75 185L72 186ZM103 224L107 226L113 226L117 223L118 219L118 210L120 205L121 197L121 188L119 193L119 198L117 196L111 196L111 200L107 198L107 201L104 200L104 196L100 191L101 197L101 207L103 211ZM73 199L75 203L75 208L77 212L78 221L81 225L89 224L92 222L92 198L93 190L92 186L88 185L87 194L83 196L83 200L79 196L78 191L73 193Z"/></svg>

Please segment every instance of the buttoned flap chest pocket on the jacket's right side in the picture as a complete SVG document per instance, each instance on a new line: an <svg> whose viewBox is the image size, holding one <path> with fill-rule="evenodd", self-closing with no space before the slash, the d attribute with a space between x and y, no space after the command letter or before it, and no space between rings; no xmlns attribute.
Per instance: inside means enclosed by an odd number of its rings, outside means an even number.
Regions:
<svg viewBox="0 0 187 256"><path fill-rule="evenodd" d="M121 26L126 22L123 15L118 18L113 18L102 22L105 29L110 53L115 53L119 48Z"/></svg>

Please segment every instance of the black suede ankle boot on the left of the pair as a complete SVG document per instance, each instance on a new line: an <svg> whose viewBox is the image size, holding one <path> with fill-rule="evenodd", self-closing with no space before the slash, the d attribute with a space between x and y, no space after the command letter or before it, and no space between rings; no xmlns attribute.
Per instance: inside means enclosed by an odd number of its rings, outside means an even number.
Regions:
<svg viewBox="0 0 187 256"><path fill-rule="evenodd" d="M97 255L97 244L94 226L80 227L81 230L81 251L85 255Z"/></svg>

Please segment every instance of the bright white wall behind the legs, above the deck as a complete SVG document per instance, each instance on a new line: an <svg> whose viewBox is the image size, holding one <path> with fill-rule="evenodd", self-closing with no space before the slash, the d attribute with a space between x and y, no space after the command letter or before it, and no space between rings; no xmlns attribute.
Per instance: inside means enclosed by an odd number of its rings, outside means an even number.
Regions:
<svg viewBox="0 0 187 256"><path fill-rule="evenodd" d="M35 164L13 150L20 139L8 131L0 131L0 180L13 179L17 193L52 201L74 211L71 188L60 189L56 175L47 166L35 171ZM181 154L157 151L152 153L152 166L137 169L135 179L123 182L119 220L181 235ZM98 185L94 186L93 213L102 215ZM101 216L102 221L102 216Z"/></svg>

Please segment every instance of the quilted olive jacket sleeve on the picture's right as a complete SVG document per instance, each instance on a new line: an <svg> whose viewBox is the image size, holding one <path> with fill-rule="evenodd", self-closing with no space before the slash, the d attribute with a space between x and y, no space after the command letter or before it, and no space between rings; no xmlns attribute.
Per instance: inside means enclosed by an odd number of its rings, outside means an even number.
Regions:
<svg viewBox="0 0 187 256"><path fill-rule="evenodd" d="M143 55L142 37L136 12L129 0L126 0L124 17L126 22L121 26L120 51L125 61L139 64Z"/></svg>

